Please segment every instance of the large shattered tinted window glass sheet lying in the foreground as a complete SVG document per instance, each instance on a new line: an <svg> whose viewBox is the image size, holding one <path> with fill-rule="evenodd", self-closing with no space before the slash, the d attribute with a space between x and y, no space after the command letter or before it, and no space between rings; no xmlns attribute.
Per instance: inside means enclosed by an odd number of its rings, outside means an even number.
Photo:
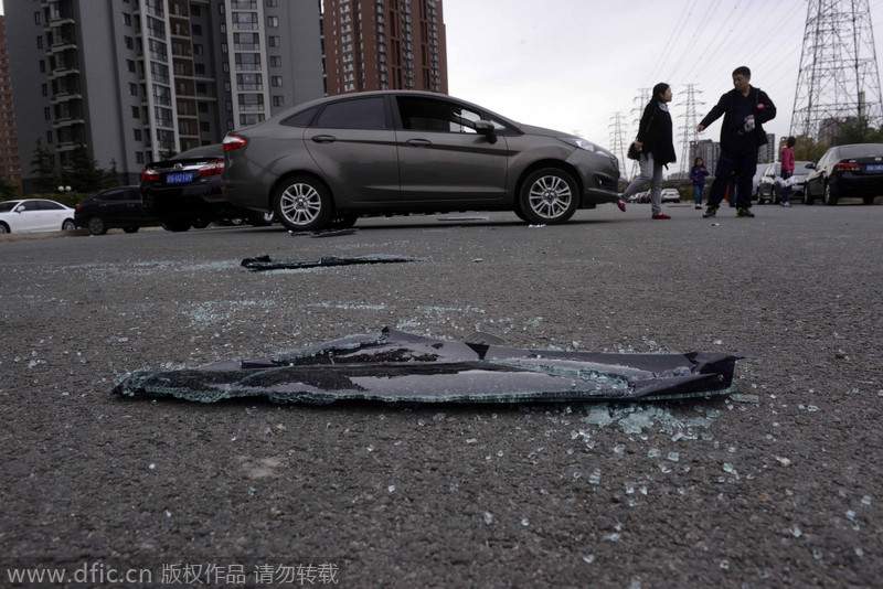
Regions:
<svg viewBox="0 0 883 589"><path fill-rule="evenodd" d="M486 334L458 342L386 328L264 360L136 371L114 393L202 403L657 400L732 393L742 357L529 350Z"/></svg>

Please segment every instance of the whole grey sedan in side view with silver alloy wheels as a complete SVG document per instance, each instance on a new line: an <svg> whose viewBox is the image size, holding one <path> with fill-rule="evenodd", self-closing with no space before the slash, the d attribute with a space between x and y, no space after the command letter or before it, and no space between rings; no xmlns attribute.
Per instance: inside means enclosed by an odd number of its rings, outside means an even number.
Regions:
<svg viewBox="0 0 883 589"><path fill-rule="evenodd" d="M227 133L223 194L292 231L360 215L514 211L567 221L618 199L607 150L449 96L385 90L322 98Z"/></svg>

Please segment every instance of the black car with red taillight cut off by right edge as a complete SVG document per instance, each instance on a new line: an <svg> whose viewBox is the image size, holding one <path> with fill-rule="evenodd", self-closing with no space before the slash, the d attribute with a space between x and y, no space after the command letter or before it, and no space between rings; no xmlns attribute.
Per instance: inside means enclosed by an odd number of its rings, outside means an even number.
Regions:
<svg viewBox="0 0 883 589"><path fill-rule="evenodd" d="M806 204L822 199L833 206L849 196L873 204L874 197L883 195L883 143L832 147L813 168L807 176Z"/></svg>

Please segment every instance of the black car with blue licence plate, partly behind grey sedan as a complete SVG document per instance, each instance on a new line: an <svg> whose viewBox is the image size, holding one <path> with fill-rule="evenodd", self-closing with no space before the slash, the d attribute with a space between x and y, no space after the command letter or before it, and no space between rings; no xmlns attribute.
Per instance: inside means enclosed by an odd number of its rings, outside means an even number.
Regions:
<svg viewBox="0 0 883 589"><path fill-rule="evenodd" d="M202 228L222 222L269 225L273 215L234 206L221 195L224 150L220 143L184 151L141 171L145 210L172 232Z"/></svg>

